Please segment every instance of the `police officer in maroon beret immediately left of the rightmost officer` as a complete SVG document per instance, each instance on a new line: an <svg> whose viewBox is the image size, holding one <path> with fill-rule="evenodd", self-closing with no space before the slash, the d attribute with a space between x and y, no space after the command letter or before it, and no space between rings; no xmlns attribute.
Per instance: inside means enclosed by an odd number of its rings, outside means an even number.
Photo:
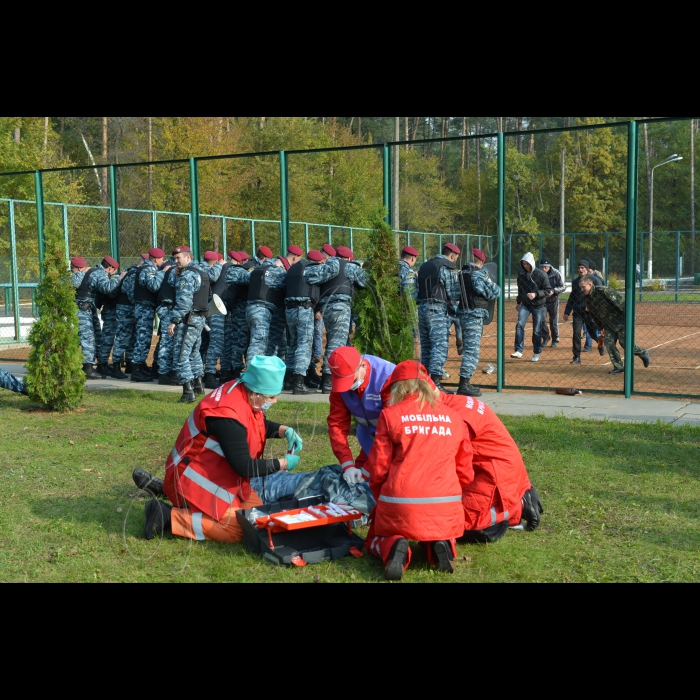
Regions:
<svg viewBox="0 0 700 700"><path fill-rule="evenodd" d="M459 301L460 290L453 274L461 254L453 243L447 243L442 255L424 263L418 273L418 330L421 364L441 391L447 362L451 321L448 307ZM447 392L449 393L449 392Z"/></svg>

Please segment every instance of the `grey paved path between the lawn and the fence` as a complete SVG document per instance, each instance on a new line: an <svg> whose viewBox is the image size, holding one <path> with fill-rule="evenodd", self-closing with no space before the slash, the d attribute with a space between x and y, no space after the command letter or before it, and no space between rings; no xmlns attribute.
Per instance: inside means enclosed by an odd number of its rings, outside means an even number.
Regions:
<svg viewBox="0 0 700 700"><path fill-rule="evenodd" d="M22 377L24 365L0 364L2 369ZM158 386L150 384L132 384L129 381L91 381L89 390L119 391L130 389L134 391L158 391L181 395L182 389L174 386ZM292 396L283 394L282 400L305 403L328 403L328 397L323 394L311 396ZM484 393L484 402L496 413L502 416L533 416L547 417L565 416L567 418L586 418L591 420L612 420L637 423L663 423L673 425L692 425L700 427L700 403L683 400L660 399L624 399L618 396L557 396L547 393Z"/></svg>

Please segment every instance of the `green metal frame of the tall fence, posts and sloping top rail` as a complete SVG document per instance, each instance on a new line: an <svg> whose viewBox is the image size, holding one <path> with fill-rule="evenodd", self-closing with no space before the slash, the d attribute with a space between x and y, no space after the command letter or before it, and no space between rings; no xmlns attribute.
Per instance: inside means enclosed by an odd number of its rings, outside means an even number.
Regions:
<svg viewBox="0 0 700 700"><path fill-rule="evenodd" d="M628 162L627 162L627 226L626 226L626 269L628 274L625 276L625 292L626 292L626 324L627 335L625 343L626 357L633 356L633 348L635 344L635 305L637 300L636 295L636 276L629 274L630 270L636 269L638 257L638 184L639 184L639 124L652 123L668 123L674 121L688 121L698 119L698 117L664 117L655 119L645 119L639 121L615 122L614 124L585 124L570 127L558 127L553 129L533 129L528 131L529 134L545 134L545 133L564 133L576 131L595 131L598 129L622 129L627 128L628 139ZM0 173L0 177L16 177L34 175L35 192L36 192L36 210L37 210L37 228L39 240L39 258L43 263L44 257L44 228L45 228L45 202L44 202L44 173L65 172L65 171L80 171L80 170L95 170L95 168L107 168L109 172L110 183L110 238L111 238L111 255L119 259L119 207L117 201L117 170L119 168L128 167L143 167L143 166L158 166L189 163L190 171L190 197L191 197L191 248L196 258L201 257L200 249L200 207L199 207L199 184L198 184L198 166L199 163L217 160L231 160L238 158L259 158L259 157L279 157L280 165L280 201L281 201L281 222L280 222L280 247L286 250L290 241L290 226L292 223L290 216L290 199L289 199L289 158L294 155L310 154L310 153L329 153L339 151L360 151L360 150L381 150L383 163L383 186L382 199L386 212L386 221L393 225L392 221L392 157L391 149L401 146L413 146L421 143L445 143L449 141L471 141L471 140L495 140L498 145L498 268L499 279L498 283L501 288L504 287L505 281L505 246L506 246L506 139L508 137L522 136L523 132L499 132L493 134L479 134L470 136L453 136L448 138L437 139L422 139L418 141L392 141L384 144L368 144L359 146L342 146L335 148L316 148L307 150L289 150L289 151L266 151L261 153L239 153L225 156L206 156L200 158L189 159L174 159L157 162L143 163L125 163L119 165L91 165L81 166L77 168L49 168L36 171L18 171L9 173ZM13 260L16 262L16 249L12 249ZM17 274L16 266L14 266L14 275ZM13 286L18 289L18 280L13 279ZM17 295L16 295L17 296ZM15 316L17 317L18 299L15 299ZM17 318L15 322L18 323ZM17 327L19 331L19 327ZM18 336L19 337L19 334ZM505 387L505 309L504 304L498 305L498 374L497 374L497 390L503 392ZM533 387L509 387L532 390ZM625 385L624 395L626 398L631 398L634 394L634 363L625 363Z"/></svg>

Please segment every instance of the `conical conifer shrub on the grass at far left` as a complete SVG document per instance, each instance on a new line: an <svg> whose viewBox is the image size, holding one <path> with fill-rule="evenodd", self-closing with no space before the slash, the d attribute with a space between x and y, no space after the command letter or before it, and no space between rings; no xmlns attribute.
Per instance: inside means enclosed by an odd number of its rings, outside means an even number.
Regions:
<svg viewBox="0 0 700 700"><path fill-rule="evenodd" d="M52 411L73 411L82 403L85 391L78 307L66 269L63 236L50 226L46 228L43 271L37 293L39 318L29 334L27 389L32 401Z"/></svg>

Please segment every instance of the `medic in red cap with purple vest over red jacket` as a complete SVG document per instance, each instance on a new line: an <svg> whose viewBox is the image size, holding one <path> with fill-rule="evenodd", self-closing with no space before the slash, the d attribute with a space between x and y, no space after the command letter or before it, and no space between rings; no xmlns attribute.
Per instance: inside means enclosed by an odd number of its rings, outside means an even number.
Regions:
<svg viewBox="0 0 700 700"><path fill-rule="evenodd" d="M374 435L382 412L382 390L396 365L379 357L365 355L351 347L338 348L328 360L333 388L330 395L328 434L338 463L349 484L369 478L364 469L374 444ZM352 419L357 421L357 439L362 450L355 459L348 437Z"/></svg>

